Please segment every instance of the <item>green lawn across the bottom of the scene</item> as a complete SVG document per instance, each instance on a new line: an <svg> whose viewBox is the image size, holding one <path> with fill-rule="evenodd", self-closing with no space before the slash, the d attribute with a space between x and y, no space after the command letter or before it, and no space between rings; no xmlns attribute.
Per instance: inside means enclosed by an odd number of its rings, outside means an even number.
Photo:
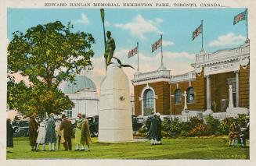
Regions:
<svg viewBox="0 0 256 166"><path fill-rule="evenodd" d="M157 146L150 146L149 140L97 143L93 138L92 141L90 152L63 151L63 146L55 152L31 152L28 138L14 138L15 147L7 159L249 159L249 147L229 147L221 138L164 139L163 145ZM48 146L45 149L48 150Z"/></svg>

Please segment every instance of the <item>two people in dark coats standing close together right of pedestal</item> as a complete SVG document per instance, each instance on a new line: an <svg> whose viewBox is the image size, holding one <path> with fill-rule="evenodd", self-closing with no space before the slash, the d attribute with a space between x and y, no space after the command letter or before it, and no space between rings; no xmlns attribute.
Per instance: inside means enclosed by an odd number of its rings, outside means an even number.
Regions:
<svg viewBox="0 0 256 166"><path fill-rule="evenodd" d="M153 114L153 113L152 113ZM149 129L147 138L151 140L151 145L160 145L162 139L162 120L160 119L160 113L154 113L150 115L146 120L146 127Z"/></svg>

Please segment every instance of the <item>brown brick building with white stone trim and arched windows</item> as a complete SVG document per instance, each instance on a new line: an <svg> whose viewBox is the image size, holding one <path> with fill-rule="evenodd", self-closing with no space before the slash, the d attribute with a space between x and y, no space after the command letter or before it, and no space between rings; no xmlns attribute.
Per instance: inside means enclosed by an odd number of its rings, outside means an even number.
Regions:
<svg viewBox="0 0 256 166"><path fill-rule="evenodd" d="M202 114L225 112L229 107L229 85L233 107L248 110L249 62L250 44L246 41L238 48L200 51L191 64L194 70L182 75L173 76L164 66L152 72L136 72L132 79L135 115L150 115L151 111L182 115L185 109Z"/></svg>

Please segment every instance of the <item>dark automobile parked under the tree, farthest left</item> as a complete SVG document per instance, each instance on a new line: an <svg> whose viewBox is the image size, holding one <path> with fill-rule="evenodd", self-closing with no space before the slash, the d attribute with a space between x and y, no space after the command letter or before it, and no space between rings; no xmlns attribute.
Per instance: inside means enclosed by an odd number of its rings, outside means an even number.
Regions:
<svg viewBox="0 0 256 166"><path fill-rule="evenodd" d="M13 121L13 136L28 136L29 121Z"/></svg>

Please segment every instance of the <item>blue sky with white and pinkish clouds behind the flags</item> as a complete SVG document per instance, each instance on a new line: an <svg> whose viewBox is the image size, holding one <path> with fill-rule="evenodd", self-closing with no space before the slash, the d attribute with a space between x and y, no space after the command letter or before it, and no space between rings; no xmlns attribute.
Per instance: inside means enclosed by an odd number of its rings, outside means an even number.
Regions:
<svg viewBox="0 0 256 166"><path fill-rule="evenodd" d="M157 70L160 66L160 48L151 52L151 45L163 35L164 65L171 70L171 75L193 70L190 66L195 55L201 50L201 34L192 41L193 30L204 21L204 51L209 53L223 48L235 48L243 44L247 37L247 22L233 25L236 14L245 9L105 9L105 27L111 31L116 43L114 56L123 64L137 68L137 55L128 58L128 51L139 42L140 72ZM249 13L250 14L250 13ZM99 84L105 75L103 23L99 9L8 9L8 40L16 30L23 33L32 26L61 21L74 25L74 31L92 34L96 44L92 58L94 69L86 72ZM135 70L124 69L129 79ZM21 79L17 77L17 79ZM133 87L130 83L132 94Z"/></svg>

